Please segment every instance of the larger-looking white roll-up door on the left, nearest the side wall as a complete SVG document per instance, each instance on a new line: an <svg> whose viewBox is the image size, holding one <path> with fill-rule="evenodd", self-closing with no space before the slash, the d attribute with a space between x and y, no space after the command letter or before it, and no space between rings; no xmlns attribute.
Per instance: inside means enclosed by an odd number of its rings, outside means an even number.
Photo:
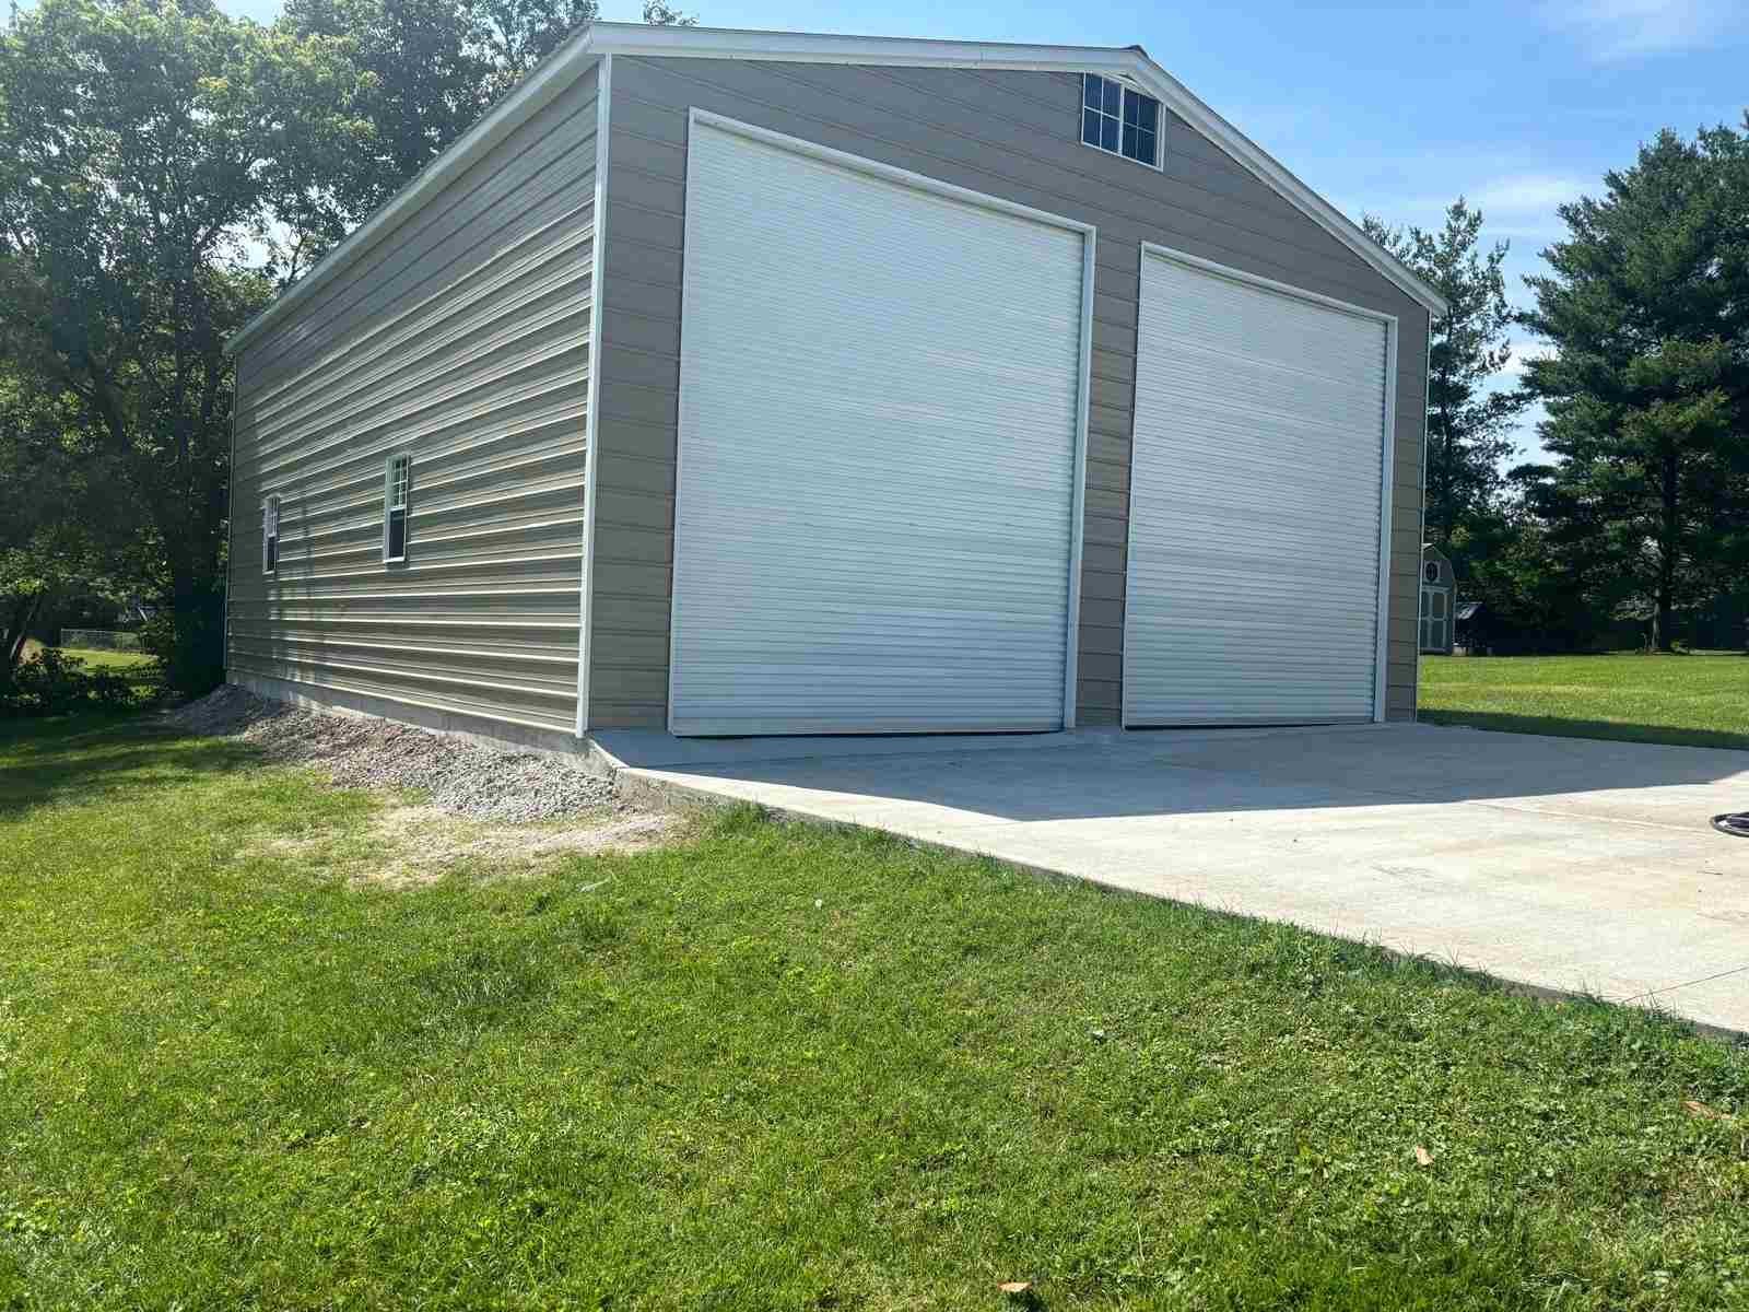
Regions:
<svg viewBox="0 0 1749 1312"><path fill-rule="evenodd" d="M1065 722L1074 226L694 115L675 733Z"/></svg>

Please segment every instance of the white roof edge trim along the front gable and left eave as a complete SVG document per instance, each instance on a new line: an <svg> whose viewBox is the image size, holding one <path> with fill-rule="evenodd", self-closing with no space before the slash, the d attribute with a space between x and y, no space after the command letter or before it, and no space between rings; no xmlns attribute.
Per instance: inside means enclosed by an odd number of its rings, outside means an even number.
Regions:
<svg viewBox="0 0 1749 1312"><path fill-rule="evenodd" d="M1397 261L1336 206L1296 178L1280 161L1198 100L1189 87L1147 58L1140 45L1016 45L1006 42L920 40L911 37L833 37L806 31L743 31L735 28L680 28L647 23L596 21L581 28L535 65L514 91L493 105L472 128L449 143L408 185L324 255L226 343L236 353L261 336L317 287L394 231L436 191L479 159L518 124L551 101L603 54L644 54L687 59L768 59L796 63L866 63L911 68L1004 68L1018 72L1104 73L1125 77L1160 100L1196 131L1219 145L1265 185L1329 233L1404 296L1432 315L1445 299Z"/></svg>

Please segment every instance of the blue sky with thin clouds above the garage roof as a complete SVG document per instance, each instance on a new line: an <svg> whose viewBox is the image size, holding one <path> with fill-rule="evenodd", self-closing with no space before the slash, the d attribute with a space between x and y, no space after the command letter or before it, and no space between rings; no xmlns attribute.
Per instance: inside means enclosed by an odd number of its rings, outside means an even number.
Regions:
<svg viewBox="0 0 1749 1312"><path fill-rule="evenodd" d="M268 19L275 0L220 0ZM1354 219L1436 224L1466 194L1509 240L1511 294L1562 227L1663 126L1739 124L1746 0L1179 3L682 0L708 26L854 31L1147 52ZM603 0L637 19L640 0ZM1523 441L1534 443L1529 422Z"/></svg>

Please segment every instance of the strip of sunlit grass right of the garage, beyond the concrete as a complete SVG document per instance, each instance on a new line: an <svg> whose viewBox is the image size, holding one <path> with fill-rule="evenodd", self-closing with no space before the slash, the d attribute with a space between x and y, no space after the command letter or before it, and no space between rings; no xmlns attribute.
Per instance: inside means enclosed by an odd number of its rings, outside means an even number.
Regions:
<svg viewBox="0 0 1749 1312"><path fill-rule="evenodd" d="M1515 733L1749 747L1749 656L1422 656L1420 714Z"/></svg>

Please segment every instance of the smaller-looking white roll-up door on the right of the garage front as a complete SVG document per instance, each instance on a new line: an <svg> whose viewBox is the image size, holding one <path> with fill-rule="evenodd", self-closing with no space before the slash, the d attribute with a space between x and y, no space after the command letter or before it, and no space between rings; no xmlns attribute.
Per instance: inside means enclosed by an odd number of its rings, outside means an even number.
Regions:
<svg viewBox="0 0 1749 1312"><path fill-rule="evenodd" d="M1387 334L1144 250L1125 724L1373 719Z"/></svg>

